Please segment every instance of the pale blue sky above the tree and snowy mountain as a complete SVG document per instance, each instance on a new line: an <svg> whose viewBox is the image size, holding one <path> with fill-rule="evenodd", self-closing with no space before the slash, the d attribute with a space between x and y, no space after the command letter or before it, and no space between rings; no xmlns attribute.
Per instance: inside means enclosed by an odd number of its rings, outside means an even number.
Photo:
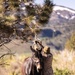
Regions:
<svg viewBox="0 0 75 75"><path fill-rule="evenodd" d="M38 4L42 4L44 0L35 0ZM66 6L75 9L75 0L53 0L56 5Z"/></svg>

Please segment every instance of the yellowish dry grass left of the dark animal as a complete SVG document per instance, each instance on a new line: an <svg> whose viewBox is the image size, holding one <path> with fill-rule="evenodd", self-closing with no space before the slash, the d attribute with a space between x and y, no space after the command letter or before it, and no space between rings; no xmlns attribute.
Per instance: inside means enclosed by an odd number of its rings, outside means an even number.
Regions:
<svg viewBox="0 0 75 75"><path fill-rule="evenodd" d="M4 65L0 65L0 75L21 75L21 65L23 60L31 56L31 54L21 54L16 56L4 57L0 59L0 64L5 63Z"/></svg>

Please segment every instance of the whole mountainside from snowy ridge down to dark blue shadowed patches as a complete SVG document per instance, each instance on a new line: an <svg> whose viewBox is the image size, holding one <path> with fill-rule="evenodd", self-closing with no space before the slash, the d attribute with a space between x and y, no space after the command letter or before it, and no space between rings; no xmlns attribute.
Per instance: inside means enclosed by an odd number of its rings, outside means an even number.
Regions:
<svg viewBox="0 0 75 75"><path fill-rule="evenodd" d="M46 38L47 44L57 50L64 49L65 42L75 31L75 10L54 6L53 13L46 27L40 33Z"/></svg>

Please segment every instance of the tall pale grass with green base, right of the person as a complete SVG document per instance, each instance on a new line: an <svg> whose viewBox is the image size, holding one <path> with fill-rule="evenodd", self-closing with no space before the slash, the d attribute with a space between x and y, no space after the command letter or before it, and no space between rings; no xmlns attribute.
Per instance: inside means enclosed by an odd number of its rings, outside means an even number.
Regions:
<svg viewBox="0 0 75 75"><path fill-rule="evenodd" d="M53 56L54 75L75 75L75 51L63 50Z"/></svg>

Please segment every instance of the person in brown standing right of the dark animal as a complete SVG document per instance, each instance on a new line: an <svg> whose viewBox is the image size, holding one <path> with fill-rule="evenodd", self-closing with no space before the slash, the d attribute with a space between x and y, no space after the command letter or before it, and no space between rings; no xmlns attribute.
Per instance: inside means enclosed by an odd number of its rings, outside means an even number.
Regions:
<svg viewBox="0 0 75 75"><path fill-rule="evenodd" d="M37 48L38 45L41 47L38 50L42 50L42 56L43 56L43 62L44 62L44 68L43 68L43 75L53 75L53 68L52 68L52 60L53 55L50 52L50 47L43 46L42 41L35 41Z"/></svg>

